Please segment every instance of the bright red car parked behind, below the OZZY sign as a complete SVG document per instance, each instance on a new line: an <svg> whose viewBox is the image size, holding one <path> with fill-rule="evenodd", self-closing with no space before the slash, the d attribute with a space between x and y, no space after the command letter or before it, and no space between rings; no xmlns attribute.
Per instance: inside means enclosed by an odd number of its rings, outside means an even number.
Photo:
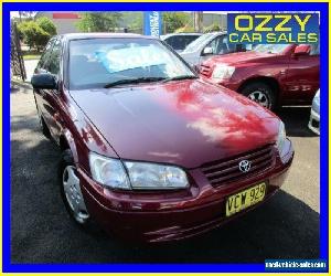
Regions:
<svg viewBox="0 0 331 276"><path fill-rule="evenodd" d="M320 87L320 47L260 44L249 52L211 57L200 73L269 109L311 105Z"/></svg>

